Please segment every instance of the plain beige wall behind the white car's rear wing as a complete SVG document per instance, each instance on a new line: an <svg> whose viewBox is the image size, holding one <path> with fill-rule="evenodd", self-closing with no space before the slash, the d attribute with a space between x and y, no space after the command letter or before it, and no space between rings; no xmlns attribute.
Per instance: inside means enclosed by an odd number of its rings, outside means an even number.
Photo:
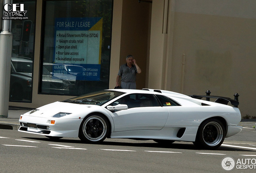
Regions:
<svg viewBox="0 0 256 173"><path fill-rule="evenodd" d="M235 93L239 93L242 116L256 116L256 2L154 2L149 87L166 88L186 95L204 95L206 90L210 90L211 95L233 98ZM167 2L166 41L160 26L161 21L164 22L163 6ZM157 55L159 60L152 60Z"/></svg>

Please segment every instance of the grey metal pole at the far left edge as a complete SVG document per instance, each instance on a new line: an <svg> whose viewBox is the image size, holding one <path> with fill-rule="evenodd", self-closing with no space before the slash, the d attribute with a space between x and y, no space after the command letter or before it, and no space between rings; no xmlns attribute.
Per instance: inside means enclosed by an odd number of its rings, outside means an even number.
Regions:
<svg viewBox="0 0 256 173"><path fill-rule="evenodd" d="M5 4L12 4L12 0L4 0L4 5ZM0 43L0 117L8 117L10 64L12 56L12 33L10 19L3 19Z"/></svg>

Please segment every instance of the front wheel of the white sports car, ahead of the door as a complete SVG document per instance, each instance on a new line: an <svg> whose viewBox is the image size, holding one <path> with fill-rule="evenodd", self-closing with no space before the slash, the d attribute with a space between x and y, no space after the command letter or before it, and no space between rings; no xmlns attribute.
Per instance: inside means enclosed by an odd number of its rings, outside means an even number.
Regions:
<svg viewBox="0 0 256 173"><path fill-rule="evenodd" d="M101 114L91 114L85 117L79 128L78 137L86 143L100 143L109 133L109 123Z"/></svg>

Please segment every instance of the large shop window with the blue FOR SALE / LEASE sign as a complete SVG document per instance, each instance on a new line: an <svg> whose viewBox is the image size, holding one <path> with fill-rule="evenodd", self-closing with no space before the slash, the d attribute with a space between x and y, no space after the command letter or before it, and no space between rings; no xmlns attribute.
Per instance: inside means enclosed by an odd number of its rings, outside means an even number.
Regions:
<svg viewBox="0 0 256 173"><path fill-rule="evenodd" d="M43 7L39 93L108 89L112 0L46 0Z"/></svg>

